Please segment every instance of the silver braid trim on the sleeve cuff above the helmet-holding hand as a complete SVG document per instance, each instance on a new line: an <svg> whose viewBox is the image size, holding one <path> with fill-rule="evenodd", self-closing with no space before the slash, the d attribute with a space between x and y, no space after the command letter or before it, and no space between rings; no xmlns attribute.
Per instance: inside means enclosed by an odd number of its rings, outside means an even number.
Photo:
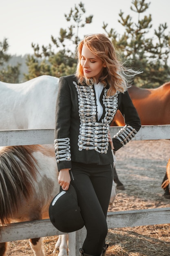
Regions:
<svg viewBox="0 0 170 256"><path fill-rule="evenodd" d="M54 148L55 148L55 159L57 163L59 163L60 161L71 161L69 138L55 139Z"/></svg>

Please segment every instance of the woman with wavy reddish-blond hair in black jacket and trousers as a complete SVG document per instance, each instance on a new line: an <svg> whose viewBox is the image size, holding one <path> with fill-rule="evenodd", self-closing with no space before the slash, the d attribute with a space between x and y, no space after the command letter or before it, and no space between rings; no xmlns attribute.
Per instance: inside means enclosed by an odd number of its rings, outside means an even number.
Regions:
<svg viewBox="0 0 170 256"><path fill-rule="evenodd" d="M77 192L87 236L81 256L104 256L108 245L106 215L113 183L112 150L132 139L141 127L127 92L126 70L104 34L88 35L77 48L76 73L59 81L55 116L58 182ZM137 72L130 71L130 76ZM109 124L117 109L126 126L112 139Z"/></svg>

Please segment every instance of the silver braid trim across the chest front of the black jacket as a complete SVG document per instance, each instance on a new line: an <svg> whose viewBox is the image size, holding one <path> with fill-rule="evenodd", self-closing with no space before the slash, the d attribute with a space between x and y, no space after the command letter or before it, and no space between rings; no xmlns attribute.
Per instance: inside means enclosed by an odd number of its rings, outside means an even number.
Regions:
<svg viewBox="0 0 170 256"><path fill-rule="evenodd" d="M77 89L79 101L79 150L96 150L99 153L106 154L109 144L109 124L113 120L117 110L117 96L119 92L114 96L108 97L106 95L107 89L104 89L103 103L106 114L102 122L98 122L96 120L97 106L93 86L77 85L77 83L73 83Z"/></svg>

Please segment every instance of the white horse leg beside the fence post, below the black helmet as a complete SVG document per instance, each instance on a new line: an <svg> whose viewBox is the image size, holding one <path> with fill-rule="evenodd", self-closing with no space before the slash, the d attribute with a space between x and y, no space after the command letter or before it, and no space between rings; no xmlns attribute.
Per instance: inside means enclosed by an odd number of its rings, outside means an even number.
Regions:
<svg viewBox="0 0 170 256"><path fill-rule="evenodd" d="M67 256L68 252L68 234L58 236L57 243L55 244L55 249L53 255L55 255L56 249L59 248L58 256Z"/></svg>

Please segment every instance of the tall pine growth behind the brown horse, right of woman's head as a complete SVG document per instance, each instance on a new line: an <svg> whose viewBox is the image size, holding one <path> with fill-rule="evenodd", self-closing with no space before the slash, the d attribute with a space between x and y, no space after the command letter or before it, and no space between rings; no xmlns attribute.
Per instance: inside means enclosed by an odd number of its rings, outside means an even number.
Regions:
<svg viewBox="0 0 170 256"><path fill-rule="evenodd" d="M152 28L152 16L143 13L149 5L146 0L132 0L130 9L138 14L137 22L133 22L130 15L124 17L124 12L120 11L118 21L125 28L121 36L113 28L107 31L108 24L103 25L122 60L135 70L143 71L136 76L133 83L145 88L157 87L170 79L170 33L167 33L168 27L165 23L155 29L154 40L147 37Z"/></svg>

